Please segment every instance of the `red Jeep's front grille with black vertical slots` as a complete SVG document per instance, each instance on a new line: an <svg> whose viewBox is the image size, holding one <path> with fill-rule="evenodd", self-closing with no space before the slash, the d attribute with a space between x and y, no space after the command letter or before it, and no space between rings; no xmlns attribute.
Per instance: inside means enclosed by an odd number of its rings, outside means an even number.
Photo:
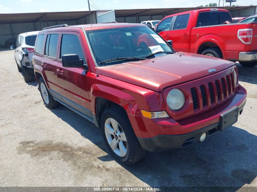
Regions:
<svg viewBox="0 0 257 192"><path fill-rule="evenodd" d="M234 93L234 79L233 74L230 73L222 77L221 79L216 79L215 81L211 81L208 85L200 85L200 87L192 87L191 94L193 100L193 108L197 109L199 107L200 99L202 99L203 106L215 106L218 103L221 103L231 97ZM209 89L210 93L207 93L207 89ZM201 90L202 98L198 98L198 90ZM208 104L208 100L210 104Z"/></svg>

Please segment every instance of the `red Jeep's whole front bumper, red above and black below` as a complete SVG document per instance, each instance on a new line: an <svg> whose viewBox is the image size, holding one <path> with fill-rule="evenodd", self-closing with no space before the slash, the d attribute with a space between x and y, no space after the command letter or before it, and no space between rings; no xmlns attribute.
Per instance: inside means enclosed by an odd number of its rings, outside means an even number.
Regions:
<svg viewBox="0 0 257 192"><path fill-rule="evenodd" d="M199 142L200 136L217 133L221 114L238 106L241 114L246 103L246 90L238 86L238 92L229 101L206 113L175 121L171 117L149 119L128 114L130 123L141 146L148 151L158 152L186 147Z"/></svg>

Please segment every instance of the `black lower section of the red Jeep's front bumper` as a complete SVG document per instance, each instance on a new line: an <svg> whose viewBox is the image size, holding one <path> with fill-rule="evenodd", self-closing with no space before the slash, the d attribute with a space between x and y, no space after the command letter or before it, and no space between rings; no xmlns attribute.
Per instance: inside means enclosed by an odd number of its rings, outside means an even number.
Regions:
<svg viewBox="0 0 257 192"><path fill-rule="evenodd" d="M238 110L238 115L241 115L245 106L246 100ZM169 149L176 149L193 145L200 141L200 137L203 133L206 133L206 138L217 133L220 129L220 121L212 125L206 126L202 129L181 134L181 135L158 135L152 138L137 137L141 146L151 152L159 152Z"/></svg>

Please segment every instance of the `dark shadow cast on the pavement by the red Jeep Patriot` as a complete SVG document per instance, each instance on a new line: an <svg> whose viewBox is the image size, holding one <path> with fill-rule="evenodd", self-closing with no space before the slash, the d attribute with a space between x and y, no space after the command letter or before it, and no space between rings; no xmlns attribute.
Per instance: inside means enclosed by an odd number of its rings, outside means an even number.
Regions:
<svg viewBox="0 0 257 192"><path fill-rule="evenodd" d="M83 117L60 105L51 111L89 139L113 160L99 128ZM257 136L231 126L224 132L209 137L203 143L178 150L159 153L147 152L144 158L130 166L130 173L151 187L198 186L236 187L250 184L257 174Z"/></svg>

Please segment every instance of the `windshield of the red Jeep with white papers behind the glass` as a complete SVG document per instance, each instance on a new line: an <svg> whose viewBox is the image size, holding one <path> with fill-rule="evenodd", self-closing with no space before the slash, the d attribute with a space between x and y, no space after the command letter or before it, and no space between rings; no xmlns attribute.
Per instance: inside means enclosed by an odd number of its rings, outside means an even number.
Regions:
<svg viewBox="0 0 257 192"><path fill-rule="evenodd" d="M160 51L174 53L171 47L148 26L99 29L87 31L86 35L99 66L104 65L100 62L109 59L143 58ZM108 65L123 62L129 61L116 60L109 62Z"/></svg>

